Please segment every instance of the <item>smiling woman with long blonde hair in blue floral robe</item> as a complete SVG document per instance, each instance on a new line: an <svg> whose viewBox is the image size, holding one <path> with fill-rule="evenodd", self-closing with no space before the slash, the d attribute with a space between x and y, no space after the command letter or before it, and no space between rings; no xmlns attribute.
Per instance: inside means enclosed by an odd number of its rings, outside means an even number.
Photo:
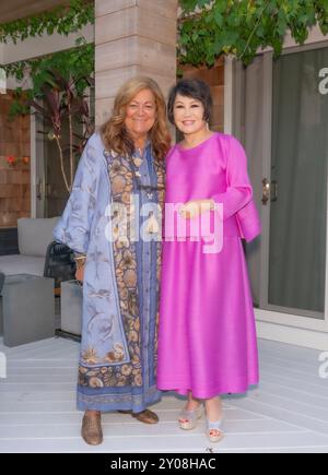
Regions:
<svg viewBox="0 0 328 475"><path fill-rule="evenodd" d="M87 142L55 229L58 241L82 254L78 407L85 412L82 437L89 444L103 441L103 412L159 421L147 407L161 397L155 379L160 211L169 144L159 85L148 78L129 80L113 116Z"/></svg>

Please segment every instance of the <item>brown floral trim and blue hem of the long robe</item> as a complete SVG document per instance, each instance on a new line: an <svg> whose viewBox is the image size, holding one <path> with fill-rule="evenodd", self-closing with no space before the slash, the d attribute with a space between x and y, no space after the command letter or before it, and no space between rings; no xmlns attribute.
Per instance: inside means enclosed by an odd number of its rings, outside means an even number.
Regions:
<svg viewBox="0 0 328 475"><path fill-rule="evenodd" d="M108 163L108 177L110 181L112 200L113 203L124 204L127 210L127 224L128 233L130 236L130 217L133 215L134 210L131 210L130 195L133 192L134 181L131 164L127 157L118 157L114 153L104 151L104 155ZM154 169L157 177L157 183L162 188L157 192L160 205L164 205L164 182L165 169L164 161L160 163L154 161ZM113 219L117 216L110 216ZM133 217L133 216L132 216ZM115 229L114 229L115 231ZM90 354L82 355L82 363L79 367L79 396L78 405L81 409L92 408L95 405L95 399L99 404L128 404L131 405L131 397L133 399L133 406L138 400L144 401L149 399L149 403L154 397L157 397L155 388L145 388L143 393L143 378L142 378L142 361L141 361L141 322L139 314L139 295L138 295L138 278L137 278L137 251L136 244L129 239L116 239L112 245L114 256L114 272L118 292L118 305L126 334L128 352L130 361L122 364L122 348L120 345L114 346L114 351L107 354L107 365L96 365L89 367L90 364L95 364L93 359L92 348ZM159 294L159 278L161 274L161 242L156 247L156 290ZM157 299L159 302L159 299ZM157 306L159 307L159 306ZM156 311L156 320L159 319L159 310ZM157 333L156 333L157 334ZM155 337L155 352L157 348L157 337ZM156 356L154 355L156 358ZM110 361L109 361L110 359ZM108 366L113 363L113 366ZM156 363L156 361L155 361ZM156 368L156 364L155 364ZM115 394L106 393L106 388L110 388ZM94 392L87 394L90 389L97 389L96 395ZM124 390L128 390L125 394ZM133 394L131 394L131 389ZM104 393L103 393L104 392ZM103 393L103 394L102 394ZM140 395L138 395L140 393ZM141 403L140 403L141 404Z"/></svg>

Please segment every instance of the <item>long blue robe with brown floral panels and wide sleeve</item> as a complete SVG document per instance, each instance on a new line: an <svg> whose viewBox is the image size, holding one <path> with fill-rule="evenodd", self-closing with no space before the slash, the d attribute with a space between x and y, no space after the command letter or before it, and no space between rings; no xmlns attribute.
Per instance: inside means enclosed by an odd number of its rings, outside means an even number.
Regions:
<svg viewBox="0 0 328 475"><path fill-rule="evenodd" d="M116 156L94 134L54 231L56 240L86 254L78 383L81 411L138 413L161 397L156 348L164 161L153 159L151 144L140 158ZM117 237L124 228L121 205L129 233L110 240L108 236ZM148 235L150 229L149 239L136 239L139 209L143 210L140 231Z"/></svg>

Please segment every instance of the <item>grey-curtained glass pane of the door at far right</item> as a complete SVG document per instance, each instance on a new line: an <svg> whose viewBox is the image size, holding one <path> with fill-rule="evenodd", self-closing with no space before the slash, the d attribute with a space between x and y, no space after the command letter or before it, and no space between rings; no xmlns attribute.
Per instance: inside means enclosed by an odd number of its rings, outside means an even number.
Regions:
<svg viewBox="0 0 328 475"><path fill-rule="evenodd" d="M328 48L283 55L272 66L268 307L324 319Z"/></svg>

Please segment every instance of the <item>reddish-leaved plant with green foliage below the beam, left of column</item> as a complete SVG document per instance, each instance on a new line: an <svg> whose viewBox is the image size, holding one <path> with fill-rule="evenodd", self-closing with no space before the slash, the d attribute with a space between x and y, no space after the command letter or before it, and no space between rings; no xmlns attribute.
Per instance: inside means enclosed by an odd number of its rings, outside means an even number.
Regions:
<svg viewBox="0 0 328 475"><path fill-rule="evenodd" d="M75 173L74 155L81 155L94 130L94 118L90 116L85 98L85 91L93 86L94 45L83 44L71 50L5 66L4 70L17 80L28 72L32 87L14 90L10 118L34 112L43 116L49 128L47 138L56 141L65 186L70 191ZM73 118L83 124L83 135L73 133ZM60 134L66 121L69 126L68 144ZM63 165L66 153L70 162L69 176Z"/></svg>

